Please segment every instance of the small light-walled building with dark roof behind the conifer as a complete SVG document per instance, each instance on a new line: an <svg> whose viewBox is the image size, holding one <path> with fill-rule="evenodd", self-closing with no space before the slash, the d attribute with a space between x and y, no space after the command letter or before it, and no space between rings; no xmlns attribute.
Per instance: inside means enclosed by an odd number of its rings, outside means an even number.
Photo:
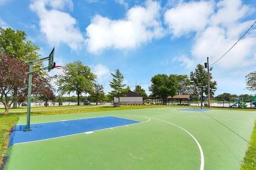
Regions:
<svg viewBox="0 0 256 170"><path fill-rule="evenodd" d="M114 103L118 103L117 97L114 97ZM128 90L125 97L120 97L120 104L143 104L143 96Z"/></svg>

